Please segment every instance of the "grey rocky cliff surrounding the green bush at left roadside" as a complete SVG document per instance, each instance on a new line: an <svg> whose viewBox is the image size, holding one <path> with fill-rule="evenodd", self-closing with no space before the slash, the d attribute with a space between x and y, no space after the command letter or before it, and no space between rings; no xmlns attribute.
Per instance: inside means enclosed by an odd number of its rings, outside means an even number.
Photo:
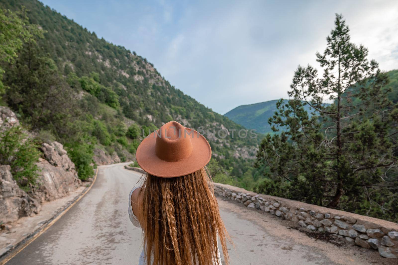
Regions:
<svg viewBox="0 0 398 265"><path fill-rule="evenodd" d="M9 108L0 106L0 130L20 125ZM31 137L31 134L29 134ZM64 197L82 185L62 144L43 143L42 157L37 162L40 169L37 185L25 192L13 179L10 166L0 165L0 222L14 222L21 217L40 211L41 203Z"/></svg>

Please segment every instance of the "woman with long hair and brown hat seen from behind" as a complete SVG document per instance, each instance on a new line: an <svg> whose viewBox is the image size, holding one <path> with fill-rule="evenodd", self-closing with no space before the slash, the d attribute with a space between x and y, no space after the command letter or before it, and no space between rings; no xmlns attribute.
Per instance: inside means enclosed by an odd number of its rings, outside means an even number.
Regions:
<svg viewBox="0 0 398 265"><path fill-rule="evenodd" d="M178 122L168 122L137 148L147 172L142 187L129 195L131 222L142 227L139 265L226 264L230 241L205 165L211 148L205 137Z"/></svg>

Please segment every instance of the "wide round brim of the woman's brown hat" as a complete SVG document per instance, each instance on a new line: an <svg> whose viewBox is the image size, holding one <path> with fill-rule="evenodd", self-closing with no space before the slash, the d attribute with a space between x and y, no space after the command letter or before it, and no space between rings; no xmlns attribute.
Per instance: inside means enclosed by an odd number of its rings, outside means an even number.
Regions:
<svg viewBox="0 0 398 265"><path fill-rule="evenodd" d="M136 159L142 170L153 176L173 178L191 174L203 168L211 159L211 147L206 138L195 130L185 128L186 137L191 138L192 152L188 157L176 162L160 159L155 153L155 132L148 135L137 148ZM188 135L188 133L193 133Z"/></svg>

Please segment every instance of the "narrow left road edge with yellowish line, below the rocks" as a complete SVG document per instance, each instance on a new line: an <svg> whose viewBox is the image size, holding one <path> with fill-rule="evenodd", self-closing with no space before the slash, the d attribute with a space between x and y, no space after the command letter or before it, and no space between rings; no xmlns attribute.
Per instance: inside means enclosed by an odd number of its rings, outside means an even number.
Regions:
<svg viewBox="0 0 398 265"><path fill-rule="evenodd" d="M74 198L73 201L68 203L64 209L59 211L57 214L55 214L53 217L48 219L43 225L41 225L39 228L37 228L32 234L29 236L23 238L20 242L16 244L16 246L6 252L4 252L0 256L0 265L6 264L8 261L10 261L13 257L15 257L18 253L20 253L24 248L29 246L33 241L35 241L36 238L38 238L41 234L43 234L47 229L49 229L55 222L57 222L66 212L68 212L88 191L91 190L92 186L96 182L97 175L98 175L98 167L96 170L96 175L94 177L94 180L91 182L90 186L88 186L86 189L84 189L78 196Z"/></svg>

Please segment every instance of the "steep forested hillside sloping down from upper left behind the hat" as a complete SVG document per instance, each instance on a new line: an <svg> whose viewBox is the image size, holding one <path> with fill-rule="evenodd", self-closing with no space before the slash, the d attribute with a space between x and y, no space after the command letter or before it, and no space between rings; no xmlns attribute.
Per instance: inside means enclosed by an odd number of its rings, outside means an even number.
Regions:
<svg viewBox="0 0 398 265"><path fill-rule="evenodd" d="M24 6L24 8L22 8ZM258 138L232 137L242 126L173 87L134 51L99 39L94 32L38 1L0 1L2 9L25 9L26 25L39 33L24 40L15 60L2 62L3 103L45 141L68 148L80 175L88 176L94 153L134 159L145 134L177 120L205 130L213 149L211 168L238 180L252 165ZM219 137L219 130L227 130Z"/></svg>

